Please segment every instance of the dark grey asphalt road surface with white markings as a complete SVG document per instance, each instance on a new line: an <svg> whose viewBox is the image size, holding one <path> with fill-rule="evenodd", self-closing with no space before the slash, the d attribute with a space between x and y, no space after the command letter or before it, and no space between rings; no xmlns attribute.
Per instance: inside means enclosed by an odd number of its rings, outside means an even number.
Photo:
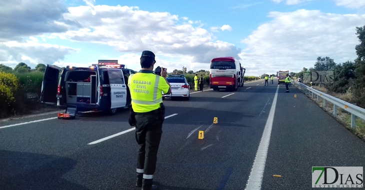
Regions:
<svg viewBox="0 0 365 190"><path fill-rule="evenodd" d="M256 81L190 96L164 101L159 190L309 190L311 167L365 166L365 143L294 86L285 93ZM139 190L128 117L120 110L0 122L0 189Z"/></svg>

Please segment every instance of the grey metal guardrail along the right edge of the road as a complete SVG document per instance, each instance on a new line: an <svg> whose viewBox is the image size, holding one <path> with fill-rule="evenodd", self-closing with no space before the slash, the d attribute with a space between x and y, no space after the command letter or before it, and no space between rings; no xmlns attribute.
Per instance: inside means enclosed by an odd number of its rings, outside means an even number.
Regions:
<svg viewBox="0 0 365 190"><path fill-rule="evenodd" d="M356 127L356 117L365 120L365 109L360 108L354 104L348 103L346 101L343 101L341 99L338 99L336 97L330 96L328 94L325 94L319 90L316 90L314 88L311 88L310 86L307 86L305 84L302 84L300 82L294 81L294 85L297 86L301 90L307 90L307 92L311 92L312 98L314 98L314 95L317 97L317 101L319 101L319 98L323 98L323 107L326 107L326 103L331 102L333 104L333 116L337 115L337 108L340 107L346 112L351 114L351 128Z"/></svg>

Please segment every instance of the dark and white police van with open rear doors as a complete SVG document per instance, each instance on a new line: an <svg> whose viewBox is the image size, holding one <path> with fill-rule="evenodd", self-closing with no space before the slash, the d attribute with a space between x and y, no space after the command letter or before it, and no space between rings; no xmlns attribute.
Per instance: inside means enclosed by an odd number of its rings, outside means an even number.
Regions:
<svg viewBox="0 0 365 190"><path fill-rule="evenodd" d="M136 73L117 60L98 60L90 67L47 65L41 88L41 103L55 104L76 115L78 111L104 111L131 106L128 77ZM67 111L68 110L68 111ZM70 111L71 110L71 111Z"/></svg>

